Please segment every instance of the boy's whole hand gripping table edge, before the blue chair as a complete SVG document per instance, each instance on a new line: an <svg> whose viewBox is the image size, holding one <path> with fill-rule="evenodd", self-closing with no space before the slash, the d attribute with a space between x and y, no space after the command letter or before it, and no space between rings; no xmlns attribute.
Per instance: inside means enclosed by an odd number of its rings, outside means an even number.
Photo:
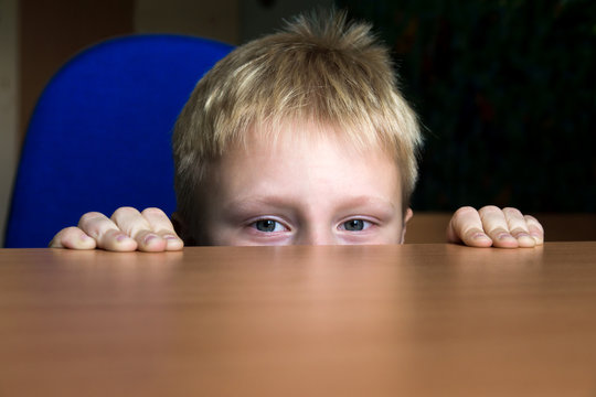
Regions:
<svg viewBox="0 0 596 397"><path fill-rule="evenodd" d="M163 211L147 208L139 213L132 207L116 210L111 218L97 212L86 213L78 227L60 230L50 243L51 248L147 253L180 250L183 246Z"/></svg>

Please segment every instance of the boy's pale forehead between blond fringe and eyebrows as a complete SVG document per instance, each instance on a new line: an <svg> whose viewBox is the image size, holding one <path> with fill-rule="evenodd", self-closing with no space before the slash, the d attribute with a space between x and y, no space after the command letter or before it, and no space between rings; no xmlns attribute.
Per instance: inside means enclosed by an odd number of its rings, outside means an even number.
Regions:
<svg viewBox="0 0 596 397"><path fill-rule="evenodd" d="M257 194L295 201L317 195L319 202L327 202L366 192L401 201L393 158L379 146L359 144L341 132L311 122L288 122L275 130L253 128L214 164L216 183L211 187L236 200Z"/></svg>

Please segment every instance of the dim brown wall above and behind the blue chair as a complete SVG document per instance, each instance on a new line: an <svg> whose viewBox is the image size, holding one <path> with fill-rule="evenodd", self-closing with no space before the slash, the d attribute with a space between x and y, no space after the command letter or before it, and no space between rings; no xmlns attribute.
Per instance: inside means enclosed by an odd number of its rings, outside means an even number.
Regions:
<svg viewBox="0 0 596 397"><path fill-rule="evenodd" d="M0 242L18 152L38 97L71 56L129 33L182 33L238 44L331 0L0 0Z"/></svg>

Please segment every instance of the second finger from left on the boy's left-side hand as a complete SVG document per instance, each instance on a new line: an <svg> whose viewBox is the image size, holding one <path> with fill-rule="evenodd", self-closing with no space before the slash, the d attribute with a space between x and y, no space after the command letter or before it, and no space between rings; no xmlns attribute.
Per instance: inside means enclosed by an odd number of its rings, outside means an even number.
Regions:
<svg viewBox="0 0 596 397"><path fill-rule="evenodd" d="M137 243L123 233L107 216L97 212L86 213L78 227L95 239L97 247L114 251L132 251Z"/></svg>

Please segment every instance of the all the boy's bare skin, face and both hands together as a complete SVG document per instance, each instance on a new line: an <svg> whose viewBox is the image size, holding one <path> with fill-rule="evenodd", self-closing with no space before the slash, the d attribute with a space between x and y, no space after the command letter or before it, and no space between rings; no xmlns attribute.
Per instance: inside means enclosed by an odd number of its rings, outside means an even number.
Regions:
<svg viewBox="0 0 596 397"><path fill-rule="evenodd" d="M254 131L212 168L202 208L210 245L402 244L412 210L402 207L400 173L379 149L356 150L333 131L286 127L275 144ZM322 133L319 133L322 132ZM291 139L285 137L305 137ZM534 247L540 223L515 208L459 208L449 243L472 247ZM110 218L83 215L51 247L115 251L180 250L182 240L158 208L118 208Z"/></svg>

